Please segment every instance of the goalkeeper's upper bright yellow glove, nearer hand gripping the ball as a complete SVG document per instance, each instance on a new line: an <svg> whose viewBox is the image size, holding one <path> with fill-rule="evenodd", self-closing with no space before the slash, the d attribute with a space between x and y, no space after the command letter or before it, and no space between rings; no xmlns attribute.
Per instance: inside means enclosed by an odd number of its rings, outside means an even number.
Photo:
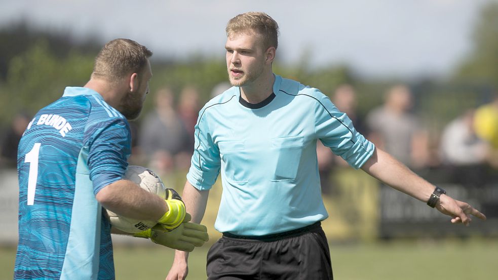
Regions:
<svg viewBox="0 0 498 280"><path fill-rule="evenodd" d="M168 211L158 220L158 225L162 226L163 231L170 231L177 228L185 219L185 204L178 192L171 188L166 189L165 201Z"/></svg>

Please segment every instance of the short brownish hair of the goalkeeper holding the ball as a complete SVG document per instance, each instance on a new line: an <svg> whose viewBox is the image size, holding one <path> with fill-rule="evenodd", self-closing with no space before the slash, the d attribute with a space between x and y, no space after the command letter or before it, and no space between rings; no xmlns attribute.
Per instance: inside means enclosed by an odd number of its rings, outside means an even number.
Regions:
<svg viewBox="0 0 498 280"><path fill-rule="evenodd" d="M152 52L130 39L114 39L95 57L92 77L117 81L130 73L140 73Z"/></svg>

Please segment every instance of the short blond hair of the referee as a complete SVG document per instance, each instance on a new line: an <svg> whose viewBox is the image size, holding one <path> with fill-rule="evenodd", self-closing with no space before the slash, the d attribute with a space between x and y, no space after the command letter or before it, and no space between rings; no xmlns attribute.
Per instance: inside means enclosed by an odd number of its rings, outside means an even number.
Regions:
<svg viewBox="0 0 498 280"><path fill-rule="evenodd" d="M226 36L235 33L243 33L254 30L261 35L261 41L265 49L278 47L279 26L269 15L262 12L248 12L237 15L228 21L226 25Z"/></svg>

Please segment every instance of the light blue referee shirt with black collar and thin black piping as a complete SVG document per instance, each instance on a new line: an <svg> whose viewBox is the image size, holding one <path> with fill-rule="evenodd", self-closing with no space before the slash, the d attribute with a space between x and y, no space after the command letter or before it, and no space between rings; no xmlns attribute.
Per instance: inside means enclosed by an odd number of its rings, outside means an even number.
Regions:
<svg viewBox="0 0 498 280"><path fill-rule="evenodd" d="M355 169L374 151L319 90L276 75L273 92L251 106L232 87L199 113L187 180L207 190L221 172L220 232L265 235L326 219L317 139Z"/></svg>

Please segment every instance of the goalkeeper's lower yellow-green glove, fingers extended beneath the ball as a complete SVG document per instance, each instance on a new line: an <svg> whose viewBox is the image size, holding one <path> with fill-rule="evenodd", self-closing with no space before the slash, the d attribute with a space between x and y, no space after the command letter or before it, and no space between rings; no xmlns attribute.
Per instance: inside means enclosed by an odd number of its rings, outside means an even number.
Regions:
<svg viewBox="0 0 498 280"><path fill-rule="evenodd" d="M209 236L204 225L189 223L190 215L186 214L185 221L172 231L156 230L159 226L135 233L136 237L150 238L156 244L160 244L172 249L192 252L195 247L201 247Z"/></svg>

